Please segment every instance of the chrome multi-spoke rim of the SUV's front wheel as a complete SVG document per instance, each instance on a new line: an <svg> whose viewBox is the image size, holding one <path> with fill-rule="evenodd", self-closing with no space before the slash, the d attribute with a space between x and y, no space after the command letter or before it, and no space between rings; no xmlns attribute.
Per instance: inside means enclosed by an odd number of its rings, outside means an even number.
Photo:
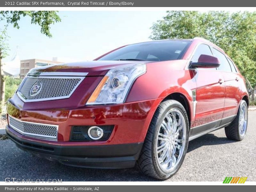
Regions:
<svg viewBox="0 0 256 192"><path fill-rule="evenodd" d="M171 109L160 125L156 154L157 162L164 172L172 172L180 162L186 146L187 129L179 109Z"/></svg>

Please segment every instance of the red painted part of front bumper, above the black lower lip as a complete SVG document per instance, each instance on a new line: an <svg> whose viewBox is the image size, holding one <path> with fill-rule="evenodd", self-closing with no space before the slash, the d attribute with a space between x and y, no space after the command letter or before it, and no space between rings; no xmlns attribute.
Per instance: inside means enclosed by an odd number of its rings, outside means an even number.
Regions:
<svg viewBox="0 0 256 192"><path fill-rule="evenodd" d="M30 141L71 146L126 144L144 141L144 135L151 121L148 116L154 113L154 109L157 107L154 105L159 102L158 100L97 107L84 106L77 109L33 111L18 109L17 106L14 108L9 103L8 114L23 121L59 125L58 142L22 136L23 139ZM72 125L115 125L115 127L107 141L66 142L69 141ZM12 131L11 128L8 128L8 130Z"/></svg>

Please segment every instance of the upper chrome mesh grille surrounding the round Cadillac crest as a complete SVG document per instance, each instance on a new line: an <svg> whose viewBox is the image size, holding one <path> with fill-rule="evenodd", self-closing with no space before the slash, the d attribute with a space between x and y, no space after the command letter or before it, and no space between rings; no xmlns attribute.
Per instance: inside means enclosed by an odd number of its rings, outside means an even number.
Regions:
<svg viewBox="0 0 256 192"><path fill-rule="evenodd" d="M54 100L70 97L83 77L27 77L19 92L23 100ZM40 91L31 95L32 87L40 85Z"/></svg>

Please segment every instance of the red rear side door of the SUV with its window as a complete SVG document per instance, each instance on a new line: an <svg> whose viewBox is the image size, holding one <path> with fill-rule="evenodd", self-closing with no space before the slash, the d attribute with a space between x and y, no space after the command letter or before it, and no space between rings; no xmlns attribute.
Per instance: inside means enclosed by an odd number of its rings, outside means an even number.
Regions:
<svg viewBox="0 0 256 192"><path fill-rule="evenodd" d="M239 103L239 76L233 62L228 59L223 53L216 49L212 49L213 55L220 60L220 67L218 70L223 74L225 81L225 103L224 114L221 125L230 123L238 110Z"/></svg>

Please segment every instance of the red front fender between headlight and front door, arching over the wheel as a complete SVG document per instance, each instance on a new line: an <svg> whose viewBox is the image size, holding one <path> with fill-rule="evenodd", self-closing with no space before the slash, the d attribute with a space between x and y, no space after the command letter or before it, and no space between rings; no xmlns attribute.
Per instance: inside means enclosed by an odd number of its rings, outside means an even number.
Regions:
<svg viewBox="0 0 256 192"><path fill-rule="evenodd" d="M159 104L172 93L182 94L188 101L190 114L193 114L192 90L196 89L196 80L194 71L184 70L186 64L187 60L148 63L147 73L134 82L126 102L154 100L144 130L148 129ZM193 115L190 120L194 121Z"/></svg>

